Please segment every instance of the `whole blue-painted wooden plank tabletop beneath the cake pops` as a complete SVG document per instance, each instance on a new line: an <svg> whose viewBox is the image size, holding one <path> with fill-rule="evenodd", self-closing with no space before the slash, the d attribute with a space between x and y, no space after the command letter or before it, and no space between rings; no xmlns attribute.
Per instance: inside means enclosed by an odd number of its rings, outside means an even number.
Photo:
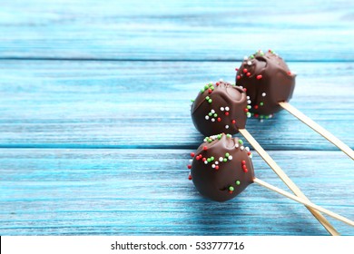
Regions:
<svg viewBox="0 0 354 254"><path fill-rule="evenodd" d="M2 0L0 234L328 235L303 206L255 184L228 202L202 199L187 179L203 138L190 99L271 48L298 73L291 104L354 148L353 9ZM288 112L247 129L310 200L354 219L349 157ZM256 153L253 163L288 190Z"/></svg>

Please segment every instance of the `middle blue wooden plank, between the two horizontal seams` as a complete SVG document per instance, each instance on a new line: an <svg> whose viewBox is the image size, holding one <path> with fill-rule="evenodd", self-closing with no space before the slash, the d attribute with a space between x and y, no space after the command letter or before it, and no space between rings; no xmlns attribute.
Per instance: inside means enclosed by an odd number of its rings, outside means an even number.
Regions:
<svg viewBox="0 0 354 254"><path fill-rule="evenodd" d="M237 63L0 62L0 146L195 148L190 99ZM354 64L291 63L293 103L354 147ZM336 150L280 112L247 129L266 150Z"/></svg>

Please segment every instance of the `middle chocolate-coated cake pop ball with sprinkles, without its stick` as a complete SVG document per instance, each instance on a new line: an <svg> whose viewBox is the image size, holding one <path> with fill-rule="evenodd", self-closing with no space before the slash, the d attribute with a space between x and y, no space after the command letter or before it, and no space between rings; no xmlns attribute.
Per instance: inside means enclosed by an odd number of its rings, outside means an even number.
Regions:
<svg viewBox="0 0 354 254"><path fill-rule="evenodd" d="M226 82L209 83L192 103L192 121L204 136L235 134L245 128L247 106L247 95L240 87Z"/></svg>

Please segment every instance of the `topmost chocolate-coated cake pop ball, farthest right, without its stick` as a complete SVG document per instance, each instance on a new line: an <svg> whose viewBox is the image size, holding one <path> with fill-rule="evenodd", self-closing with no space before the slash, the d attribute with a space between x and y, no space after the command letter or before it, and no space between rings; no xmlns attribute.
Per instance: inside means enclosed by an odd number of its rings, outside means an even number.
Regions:
<svg viewBox="0 0 354 254"><path fill-rule="evenodd" d="M290 101L295 76L278 54L258 51L241 64L236 74L236 85L247 89L252 115L268 116L282 109L280 102Z"/></svg>

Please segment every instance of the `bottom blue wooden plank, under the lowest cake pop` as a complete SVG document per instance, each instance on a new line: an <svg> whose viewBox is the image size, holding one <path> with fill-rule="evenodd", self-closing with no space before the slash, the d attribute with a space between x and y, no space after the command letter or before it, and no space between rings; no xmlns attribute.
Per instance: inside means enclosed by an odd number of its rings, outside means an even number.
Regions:
<svg viewBox="0 0 354 254"><path fill-rule="evenodd" d="M202 199L187 180L189 153L2 149L0 234L327 235L300 204L256 184L225 203ZM310 200L354 218L352 161L339 151L270 155ZM259 156L253 162L260 179L286 190Z"/></svg>

